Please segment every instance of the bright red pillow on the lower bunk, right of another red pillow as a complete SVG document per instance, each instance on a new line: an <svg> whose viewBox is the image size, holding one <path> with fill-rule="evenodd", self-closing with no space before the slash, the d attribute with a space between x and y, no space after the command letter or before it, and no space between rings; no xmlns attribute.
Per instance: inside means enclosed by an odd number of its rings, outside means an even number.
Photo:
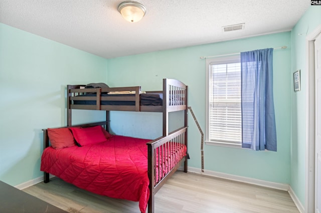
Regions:
<svg viewBox="0 0 321 213"><path fill-rule="evenodd" d="M106 141L106 137L99 125L86 128L70 128L76 141L81 145L92 145Z"/></svg>

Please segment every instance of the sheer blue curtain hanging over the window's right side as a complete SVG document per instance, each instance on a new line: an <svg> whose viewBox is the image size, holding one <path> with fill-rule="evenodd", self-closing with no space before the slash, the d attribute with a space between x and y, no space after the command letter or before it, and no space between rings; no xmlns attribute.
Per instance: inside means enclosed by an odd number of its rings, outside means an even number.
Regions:
<svg viewBox="0 0 321 213"><path fill-rule="evenodd" d="M276 151L273 48L241 52L242 147Z"/></svg>

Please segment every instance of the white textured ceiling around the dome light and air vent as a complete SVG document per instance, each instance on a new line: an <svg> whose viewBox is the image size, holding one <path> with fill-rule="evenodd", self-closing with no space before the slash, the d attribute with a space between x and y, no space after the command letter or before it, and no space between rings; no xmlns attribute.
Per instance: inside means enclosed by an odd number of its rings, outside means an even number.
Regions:
<svg viewBox="0 0 321 213"><path fill-rule="evenodd" d="M0 0L0 22L111 58L291 30L310 0L137 0L135 23L123 0ZM245 23L238 31L222 26Z"/></svg>

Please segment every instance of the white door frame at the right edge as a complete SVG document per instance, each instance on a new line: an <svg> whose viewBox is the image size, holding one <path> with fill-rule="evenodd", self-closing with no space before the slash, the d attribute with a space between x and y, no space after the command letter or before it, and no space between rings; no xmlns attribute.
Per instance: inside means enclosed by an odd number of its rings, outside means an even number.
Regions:
<svg viewBox="0 0 321 213"><path fill-rule="evenodd" d="M306 36L306 143L305 143L305 212L315 209L315 68L314 40L321 25Z"/></svg>

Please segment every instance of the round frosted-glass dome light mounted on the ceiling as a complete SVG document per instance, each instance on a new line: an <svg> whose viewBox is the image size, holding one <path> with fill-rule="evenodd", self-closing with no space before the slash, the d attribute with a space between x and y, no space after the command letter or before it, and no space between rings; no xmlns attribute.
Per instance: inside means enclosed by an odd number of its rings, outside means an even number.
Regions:
<svg viewBox="0 0 321 213"><path fill-rule="evenodd" d="M139 21L146 13L146 8L136 1L124 1L118 5L118 11L129 22Z"/></svg>

